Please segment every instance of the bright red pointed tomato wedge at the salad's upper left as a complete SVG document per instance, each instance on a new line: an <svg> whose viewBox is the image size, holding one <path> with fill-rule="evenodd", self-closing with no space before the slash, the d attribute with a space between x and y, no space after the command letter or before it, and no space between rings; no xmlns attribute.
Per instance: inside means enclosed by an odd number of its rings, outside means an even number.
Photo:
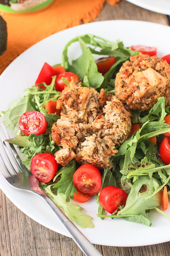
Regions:
<svg viewBox="0 0 170 256"><path fill-rule="evenodd" d="M38 85L39 83L46 83L46 85L50 85L52 82L52 76L56 75L56 71L50 66L47 62L44 63L38 78L36 79L36 86L41 87L43 90L46 89L44 85Z"/></svg>

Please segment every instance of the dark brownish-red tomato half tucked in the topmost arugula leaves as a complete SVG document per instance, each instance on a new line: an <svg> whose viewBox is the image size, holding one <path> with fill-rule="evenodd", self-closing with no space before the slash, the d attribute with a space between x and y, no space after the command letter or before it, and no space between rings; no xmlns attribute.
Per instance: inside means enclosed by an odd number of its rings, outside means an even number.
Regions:
<svg viewBox="0 0 170 256"><path fill-rule="evenodd" d="M99 58L96 60L97 69L104 75L115 62L116 59L114 56Z"/></svg>

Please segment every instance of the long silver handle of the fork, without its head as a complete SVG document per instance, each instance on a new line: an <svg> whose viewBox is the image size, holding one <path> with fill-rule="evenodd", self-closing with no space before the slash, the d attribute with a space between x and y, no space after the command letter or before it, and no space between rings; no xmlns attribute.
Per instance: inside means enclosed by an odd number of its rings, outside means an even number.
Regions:
<svg viewBox="0 0 170 256"><path fill-rule="evenodd" d="M70 219L62 212L62 210L51 200L48 195L37 193L49 206L58 220L66 228L67 232L73 238L74 242L79 246L86 256L103 256L94 245L83 235L83 233L70 221Z"/></svg>

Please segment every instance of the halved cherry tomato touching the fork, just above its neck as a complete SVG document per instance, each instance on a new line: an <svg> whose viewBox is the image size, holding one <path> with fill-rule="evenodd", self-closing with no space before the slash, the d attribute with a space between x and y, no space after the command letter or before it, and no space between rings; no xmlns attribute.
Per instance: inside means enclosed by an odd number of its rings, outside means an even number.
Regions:
<svg viewBox="0 0 170 256"><path fill-rule="evenodd" d="M58 170L55 156L50 153L34 155L31 161L31 172L39 182L47 183L53 179Z"/></svg>

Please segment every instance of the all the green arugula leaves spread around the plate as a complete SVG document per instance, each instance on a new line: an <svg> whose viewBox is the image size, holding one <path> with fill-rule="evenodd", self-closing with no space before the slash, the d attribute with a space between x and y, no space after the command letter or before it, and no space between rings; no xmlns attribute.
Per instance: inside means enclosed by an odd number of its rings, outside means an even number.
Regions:
<svg viewBox="0 0 170 256"><path fill-rule="evenodd" d="M71 44L79 43L81 55L70 60L68 49ZM112 42L107 39L86 34L77 36L70 40L64 47L62 53L62 66L66 71L78 74L83 81L83 86L114 93L114 80L121 65L130 56L140 54L124 47L120 41ZM102 75L98 72L95 63L96 56L115 56L116 62L110 70ZM56 64L57 65L57 64ZM30 170L31 159L34 155L49 152L53 155L59 147L51 138L51 127L60 117L47 113L45 103L49 99L57 101L60 92L55 90L55 76L50 85L42 83L46 90L32 86L24 91L23 98L12 101L9 110L1 112L3 123L6 128L12 130L16 136L10 143L17 145L23 153L25 160L23 164ZM63 82L68 84L66 79ZM19 118L28 110L40 111L47 120L48 129L45 134L29 136L19 132ZM159 157L158 147L149 140L157 136L158 140L165 132L170 132L168 124L164 123L166 114L170 114L170 106L165 107L164 97L160 97L150 111L131 111L133 123L140 123L141 128L127 139L113 156L112 169L105 168L102 171L102 188L106 186L117 186L128 193L125 207L120 207L116 214L105 215L104 208L99 203L99 195L96 202L99 204L97 216L100 218L122 218L126 221L138 222L151 226L149 216L150 209L155 209L166 217L157 206L161 203L162 188L166 185L170 194L170 165L165 165ZM72 160L66 167L62 167L54 177L53 181L40 187L52 198L72 222L77 222L81 227L94 227L91 217L82 213L83 208L71 204L70 199L77 193L73 184L73 175L76 170L76 162ZM169 218L169 217L168 217Z"/></svg>

